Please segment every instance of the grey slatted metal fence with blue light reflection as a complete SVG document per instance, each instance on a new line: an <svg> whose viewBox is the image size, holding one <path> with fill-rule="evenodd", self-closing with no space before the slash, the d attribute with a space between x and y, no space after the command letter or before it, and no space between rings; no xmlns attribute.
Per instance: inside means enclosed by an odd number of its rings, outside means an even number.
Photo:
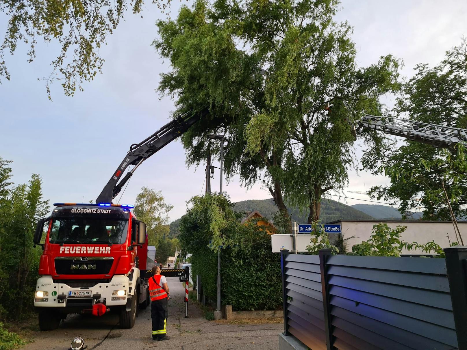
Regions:
<svg viewBox="0 0 467 350"><path fill-rule="evenodd" d="M447 259L282 251L284 334L312 350L467 349L467 247L449 249Z"/></svg>

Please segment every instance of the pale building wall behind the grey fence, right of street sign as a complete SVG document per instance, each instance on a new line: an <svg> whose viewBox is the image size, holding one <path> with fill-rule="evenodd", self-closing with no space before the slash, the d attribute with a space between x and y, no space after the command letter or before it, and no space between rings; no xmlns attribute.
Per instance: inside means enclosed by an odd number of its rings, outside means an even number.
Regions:
<svg viewBox="0 0 467 350"><path fill-rule="evenodd" d="M347 251L350 252L352 245L366 241L370 238L373 230L373 225L378 224L380 221L341 221L336 224L342 225L343 238L351 238L347 241ZM401 237L406 242L417 242L425 244L434 240L441 248L449 246L447 234L451 242L456 240L454 233L453 224L450 222L428 222L428 221L381 221L388 224L390 228L396 228L396 226L407 226L405 231L401 234ZM458 223L460 234L463 239L466 239L467 244L467 222ZM414 251L406 251L403 253L413 253ZM417 252L422 254L422 252Z"/></svg>

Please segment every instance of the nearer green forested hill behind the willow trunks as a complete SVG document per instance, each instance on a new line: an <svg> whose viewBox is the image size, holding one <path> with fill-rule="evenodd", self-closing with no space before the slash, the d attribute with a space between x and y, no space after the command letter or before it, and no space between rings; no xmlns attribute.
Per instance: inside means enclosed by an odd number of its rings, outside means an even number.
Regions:
<svg viewBox="0 0 467 350"><path fill-rule="evenodd" d="M258 210L261 215L272 219L274 213L277 211L276 204L272 198L269 199L250 199L248 201L241 201L233 203L237 211L253 211ZM297 208L289 208L292 213L292 220L297 224L306 224L308 221L308 210L300 212ZM327 223L339 219L347 220L371 220L368 214L360 210L354 209L346 204L342 204L331 199L321 200L321 215L319 219L323 223Z"/></svg>

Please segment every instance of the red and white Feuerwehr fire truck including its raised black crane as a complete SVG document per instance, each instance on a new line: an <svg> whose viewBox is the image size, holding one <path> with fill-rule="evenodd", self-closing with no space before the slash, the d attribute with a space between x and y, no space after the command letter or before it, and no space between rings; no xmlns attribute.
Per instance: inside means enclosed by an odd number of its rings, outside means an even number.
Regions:
<svg viewBox="0 0 467 350"><path fill-rule="evenodd" d="M43 253L34 305L41 330L56 329L70 313L103 315L111 308L119 309L121 328L133 327L138 305L144 308L150 300L146 225L132 205L112 200L143 161L206 114L186 113L131 145L96 204L55 203L50 217L39 220L34 243L42 245Z"/></svg>

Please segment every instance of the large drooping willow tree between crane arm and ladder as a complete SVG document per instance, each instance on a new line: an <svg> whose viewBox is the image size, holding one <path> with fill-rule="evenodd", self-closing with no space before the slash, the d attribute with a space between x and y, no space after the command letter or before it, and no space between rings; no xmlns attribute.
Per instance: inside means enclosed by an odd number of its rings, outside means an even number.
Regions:
<svg viewBox="0 0 467 350"><path fill-rule="evenodd" d="M264 174L277 207L308 208L347 184L356 165L350 125L381 113L378 98L399 88L399 62L384 56L358 68L347 23L335 23L338 1L197 1L176 20L159 21L154 46L170 60L159 91L177 98L177 114L205 106L211 116L183 136L187 163L199 164L208 133L227 137L227 176L251 186ZM358 131L367 167L386 139ZM216 152L214 149L213 152Z"/></svg>

